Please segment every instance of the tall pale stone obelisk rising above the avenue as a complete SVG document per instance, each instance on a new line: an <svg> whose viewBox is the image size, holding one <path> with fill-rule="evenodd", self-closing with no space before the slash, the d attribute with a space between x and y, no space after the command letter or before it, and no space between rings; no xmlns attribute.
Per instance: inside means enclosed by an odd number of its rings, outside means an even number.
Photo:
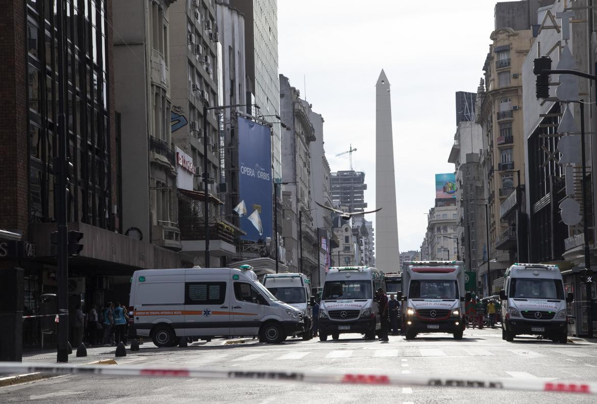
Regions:
<svg viewBox="0 0 597 404"><path fill-rule="evenodd" d="M390 83L381 70L376 84L376 213L375 262L383 272L400 269L398 248L398 213L394 178L394 147L392 140L392 104Z"/></svg>

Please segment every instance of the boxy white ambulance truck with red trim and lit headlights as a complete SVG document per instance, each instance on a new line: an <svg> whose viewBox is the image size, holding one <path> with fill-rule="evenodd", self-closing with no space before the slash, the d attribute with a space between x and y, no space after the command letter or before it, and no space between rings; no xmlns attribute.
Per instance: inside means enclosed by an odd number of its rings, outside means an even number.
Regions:
<svg viewBox="0 0 597 404"><path fill-rule="evenodd" d="M402 264L402 329L407 340L421 332L447 332L460 340L464 331L464 263L408 261Z"/></svg>

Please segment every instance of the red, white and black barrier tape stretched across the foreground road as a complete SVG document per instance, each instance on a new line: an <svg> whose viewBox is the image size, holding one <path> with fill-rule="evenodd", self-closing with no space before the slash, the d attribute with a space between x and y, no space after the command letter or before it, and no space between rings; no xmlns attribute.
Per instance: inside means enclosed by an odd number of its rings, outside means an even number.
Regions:
<svg viewBox="0 0 597 404"><path fill-rule="evenodd" d="M48 365L43 363L0 362L1 373L33 373L64 375L106 375L106 376L154 376L154 377L193 377L205 379L247 379L267 381L294 381L301 383L332 384L378 384L381 386L432 386L432 387L473 387L478 389L559 391L564 393L597 394L594 381L544 381L519 378L466 378L434 377L427 375L392 375L336 372L299 371L242 371L239 369L205 368L141 368L137 366L101 366L68 364Z"/></svg>

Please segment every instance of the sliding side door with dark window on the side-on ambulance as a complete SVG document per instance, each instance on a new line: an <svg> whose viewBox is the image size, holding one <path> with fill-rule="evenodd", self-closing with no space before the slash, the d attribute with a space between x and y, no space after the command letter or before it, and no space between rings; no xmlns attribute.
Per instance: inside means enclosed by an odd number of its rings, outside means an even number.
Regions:
<svg viewBox="0 0 597 404"><path fill-rule="evenodd" d="M187 275L184 335L230 335L230 283L222 275Z"/></svg>

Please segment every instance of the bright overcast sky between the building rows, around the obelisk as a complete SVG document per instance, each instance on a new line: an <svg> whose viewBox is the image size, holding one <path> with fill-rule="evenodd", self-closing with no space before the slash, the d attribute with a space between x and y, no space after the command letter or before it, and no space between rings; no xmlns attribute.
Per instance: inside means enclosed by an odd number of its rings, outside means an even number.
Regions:
<svg viewBox="0 0 597 404"><path fill-rule="evenodd" d="M435 173L456 132L454 92L476 92L494 27L490 0L278 0L279 72L322 114L331 170L365 172L375 206L375 83L392 85L398 237L418 250L435 199ZM303 76L306 88L303 86ZM305 91L306 89L306 91ZM374 219L370 215L368 220Z"/></svg>

